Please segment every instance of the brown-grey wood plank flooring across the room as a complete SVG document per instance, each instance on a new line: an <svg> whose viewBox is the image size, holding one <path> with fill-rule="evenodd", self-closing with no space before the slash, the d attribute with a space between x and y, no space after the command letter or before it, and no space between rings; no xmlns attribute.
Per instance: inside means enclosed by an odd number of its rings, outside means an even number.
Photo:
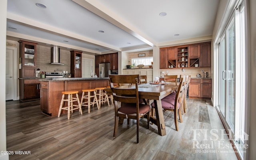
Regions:
<svg viewBox="0 0 256 160"><path fill-rule="evenodd" d="M146 129L140 120L140 144L136 144L136 120L118 126L113 139L114 106L96 106L70 115L49 117L41 113L40 101L6 102L7 150L30 151L29 155L9 155L10 160L236 160L232 149L219 147L211 129L221 136L224 129L216 108L209 101L188 99L188 110L175 130L174 113L164 112L166 135L158 135L156 125ZM197 129L195 131L195 129ZM200 132L204 130L206 132ZM196 132L196 134L195 134ZM224 136L223 145L229 144ZM212 148L196 148L196 142ZM203 153L215 150L214 153ZM198 151L196 153L196 151Z"/></svg>

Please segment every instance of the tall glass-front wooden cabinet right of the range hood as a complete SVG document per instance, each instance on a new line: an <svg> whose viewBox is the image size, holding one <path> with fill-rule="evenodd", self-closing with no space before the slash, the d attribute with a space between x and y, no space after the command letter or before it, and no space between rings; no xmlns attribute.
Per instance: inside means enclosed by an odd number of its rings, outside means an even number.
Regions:
<svg viewBox="0 0 256 160"><path fill-rule="evenodd" d="M72 50L70 51L71 63L70 71L71 77L80 78L82 77L82 52Z"/></svg>

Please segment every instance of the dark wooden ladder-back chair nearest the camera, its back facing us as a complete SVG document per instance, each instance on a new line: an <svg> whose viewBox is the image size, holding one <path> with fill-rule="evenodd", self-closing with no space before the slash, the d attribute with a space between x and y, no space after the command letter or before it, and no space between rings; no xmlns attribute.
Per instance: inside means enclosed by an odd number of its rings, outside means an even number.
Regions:
<svg viewBox="0 0 256 160"><path fill-rule="evenodd" d="M138 80L138 74L109 76L110 88L112 90L115 107L115 124L113 137L116 138L118 117L127 118L128 125L129 119L135 119L137 120L137 143L139 143L139 118L144 118L144 116L147 115L147 128L149 128L150 120L150 106L147 104L139 103ZM114 87L114 83L130 83L134 85ZM122 105L120 105L118 102L121 102Z"/></svg>

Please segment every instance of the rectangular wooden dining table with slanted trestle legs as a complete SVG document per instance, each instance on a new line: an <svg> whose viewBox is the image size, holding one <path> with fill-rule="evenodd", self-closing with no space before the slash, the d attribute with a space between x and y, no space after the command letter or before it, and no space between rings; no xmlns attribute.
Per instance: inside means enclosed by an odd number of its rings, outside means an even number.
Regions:
<svg viewBox="0 0 256 160"><path fill-rule="evenodd" d="M144 102L149 103L149 101L145 101L145 99L154 100L155 103L155 111L156 111L156 117L150 115L150 121L158 126L158 134L161 136L166 135L166 129L164 124L164 114L162 109L162 102L161 99L168 96L172 92L176 91L178 89L179 82L166 82L164 84L139 84L138 85L138 92L139 92L139 98L144 99ZM120 88L134 88L134 85L126 85L126 86L118 86ZM111 95L111 89L106 88L105 91L107 94ZM150 105L150 104L149 104Z"/></svg>

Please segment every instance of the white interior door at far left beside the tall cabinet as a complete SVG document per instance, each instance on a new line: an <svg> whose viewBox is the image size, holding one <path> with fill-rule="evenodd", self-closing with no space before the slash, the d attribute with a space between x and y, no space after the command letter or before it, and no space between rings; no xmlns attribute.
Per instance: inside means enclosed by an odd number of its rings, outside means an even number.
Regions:
<svg viewBox="0 0 256 160"><path fill-rule="evenodd" d="M14 86L13 86L13 55L14 50L6 48L6 100L14 99Z"/></svg>

